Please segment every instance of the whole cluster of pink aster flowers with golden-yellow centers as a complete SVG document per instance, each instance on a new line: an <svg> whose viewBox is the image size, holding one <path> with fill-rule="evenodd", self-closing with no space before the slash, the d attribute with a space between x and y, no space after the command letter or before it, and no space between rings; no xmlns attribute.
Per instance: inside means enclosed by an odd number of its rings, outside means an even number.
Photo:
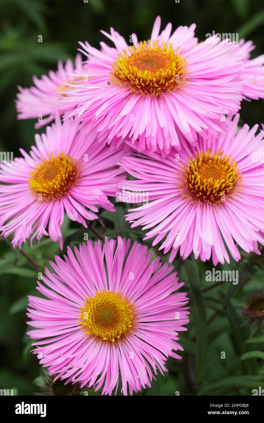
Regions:
<svg viewBox="0 0 264 423"><path fill-rule="evenodd" d="M14 247L44 234L62 248L65 212L87 228L98 207L115 211L109 197L121 190L147 193L141 206L129 200L126 219L170 262L260 254L264 132L238 128L237 113L243 99L264 98L264 55L250 59L251 41L198 42L194 24L160 26L158 16L149 39L128 44L102 31L112 46L81 42L85 61L78 53L75 66L59 62L19 87L18 118L54 122L29 154L0 166L0 233ZM47 299L29 298L34 353L56 378L102 394L117 393L119 371L125 395L150 386L168 356L181 358L173 351L188 323L173 267L120 237L74 253L46 269L37 289Z"/></svg>

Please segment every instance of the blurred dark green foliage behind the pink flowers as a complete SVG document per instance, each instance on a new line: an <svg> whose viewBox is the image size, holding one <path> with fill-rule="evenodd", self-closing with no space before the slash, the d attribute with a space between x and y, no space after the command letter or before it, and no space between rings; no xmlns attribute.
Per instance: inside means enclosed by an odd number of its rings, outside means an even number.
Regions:
<svg viewBox="0 0 264 423"><path fill-rule="evenodd" d="M40 76L49 69L56 69L59 59L74 58L78 41L89 41L99 47L106 38L99 30L110 26L126 40L135 32L140 40L150 36L154 19L161 15L162 27L172 22L179 25L197 24L196 36L204 40L206 33L239 33L239 38L253 40L256 45L252 57L264 53L264 4L258 0L0 0L0 150L28 150L34 142L33 121L17 121L14 99L17 85L31 86L32 74ZM38 43L42 35L43 42ZM250 126L264 122L264 101L243 102L242 123ZM39 132L43 131L40 130ZM129 206L127 207L129 208ZM116 214L104 212L106 234L116 237L122 234L132 239L142 239L139 231L132 231L124 220L125 210L119 204ZM94 227L102 232L100 225ZM74 224L64 226L64 239L76 231ZM94 235L92 235L94 237ZM96 239L96 238L92 238ZM79 244L82 236L76 236L71 245ZM0 241L0 388L14 388L20 395L32 395L36 386L32 383L40 374L36 356L29 354L30 341L25 335L25 308L27 295L36 294L36 278L43 272L58 245L49 239L34 243L24 253L12 250L10 240ZM154 255L156 251L154 251ZM163 256L166 261L167 257ZM175 259L176 270L191 300L188 332L181 334L184 347L183 360L169 360L169 373L158 377L152 389L143 395L251 395L253 388L262 384L264 361L258 357L240 360L249 351L263 351L263 341L246 342L249 327L240 329L242 323L238 305L243 296L253 288L261 288L264 280L263 259L254 254L242 254L239 264L217 266L217 269L239 269L238 286L231 283L206 290L211 284L205 281L206 269L211 262ZM256 336L261 335L257 329ZM261 339L261 338L260 338ZM220 358L221 352L226 358ZM257 354L258 356L259 354ZM245 356L244 356L245 357ZM258 371L260 370L260 373ZM92 394L89 393L89 395Z"/></svg>

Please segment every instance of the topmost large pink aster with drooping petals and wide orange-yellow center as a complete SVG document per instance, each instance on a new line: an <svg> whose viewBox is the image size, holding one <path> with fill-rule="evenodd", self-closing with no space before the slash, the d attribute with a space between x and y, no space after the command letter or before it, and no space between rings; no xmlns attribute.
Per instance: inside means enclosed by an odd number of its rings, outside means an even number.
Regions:
<svg viewBox="0 0 264 423"><path fill-rule="evenodd" d="M197 132L217 135L223 115L239 110L243 61L229 40L213 36L198 44L194 24L172 34L170 23L159 34L160 25L158 16L150 39L139 42L133 34L130 45L112 28L111 35L102 32L114 48L80 43L88 83L62 101L77 106L71 113L83 126L93 120L100 139L131 137L141 151L159 147L167 154L183 137L195 143Z"/></svg>

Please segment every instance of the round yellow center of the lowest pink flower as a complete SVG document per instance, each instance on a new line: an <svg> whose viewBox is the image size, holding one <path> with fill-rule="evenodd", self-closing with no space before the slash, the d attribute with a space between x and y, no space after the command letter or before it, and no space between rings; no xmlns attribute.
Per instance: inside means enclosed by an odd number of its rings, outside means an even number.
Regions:
<svg viewBox="0 0 264 423"><path fill-rule="evenodd" d="M103 289L103 292L96 291L95 297L85 297L85 300L79 323L86 327L87 335L114 342L131 327L131 305L120 294Z"/></svg>

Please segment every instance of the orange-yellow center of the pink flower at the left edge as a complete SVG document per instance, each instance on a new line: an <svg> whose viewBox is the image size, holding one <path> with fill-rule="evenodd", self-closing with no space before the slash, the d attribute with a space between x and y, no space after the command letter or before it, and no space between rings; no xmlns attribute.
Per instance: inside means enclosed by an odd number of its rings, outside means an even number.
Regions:
<svg viewBox="0 0 264 423"><path fill-rule="evenodd" d="M42 195L41 200L56 200L74 187L79 180L76 160L68 154L60 153L42 159L30 173L29 184L33 191Z"/></svg>

